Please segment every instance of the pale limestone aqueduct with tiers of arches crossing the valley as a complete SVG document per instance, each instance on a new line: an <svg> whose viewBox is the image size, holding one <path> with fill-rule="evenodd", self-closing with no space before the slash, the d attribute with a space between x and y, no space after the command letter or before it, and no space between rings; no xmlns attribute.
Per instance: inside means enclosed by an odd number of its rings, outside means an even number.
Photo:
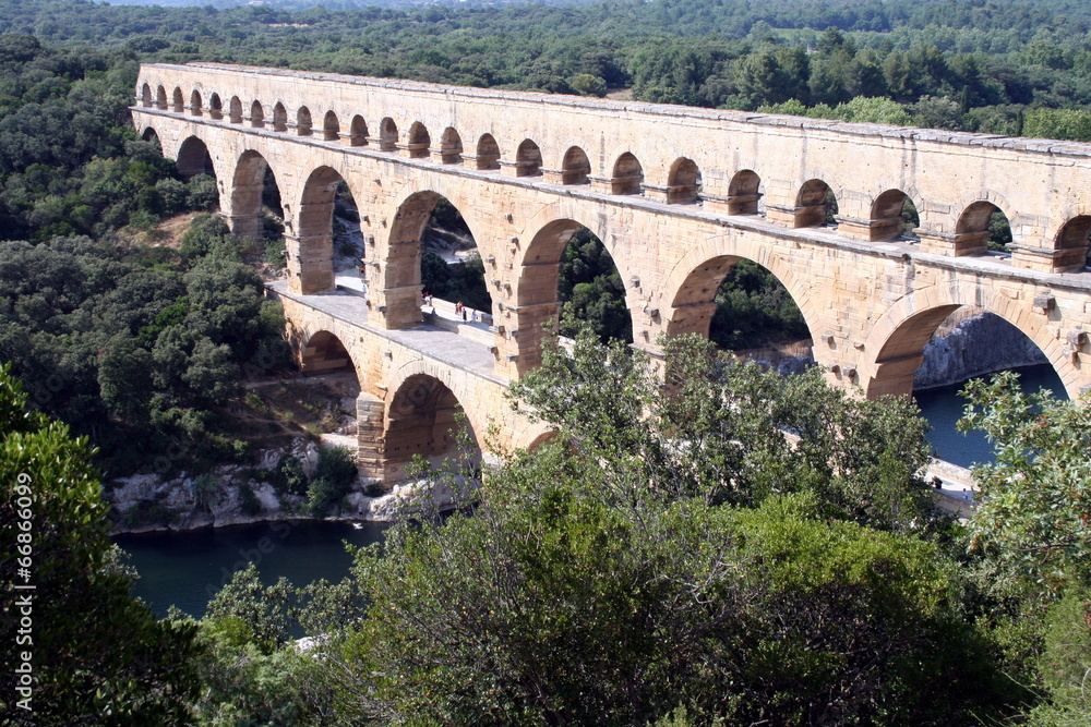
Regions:
<svg viewBox="0 0 1091 727"><path fill-rule="evenodd" d="M332 322L339 332L328 332L373 398L361 416L385 407L389 417L398 390L376 350L404 365L427 359L384 335L422 325L419 240L441 196L485 260L493 346L480 352L487 374L418 363L428 371L413 375L506 422L507 444L529 429L497 392L540 361L561 255L580 227L613 256L635 346L652 352L661 335L707 335L720 280L746 258L788 288L831 384L908 393L936 326L975 305L1027 334L1069 395L1091 387L1088 144L212 63L142 66L132 116L183 173L215 173L239 237L261 233L273 172L297 332L320 332L305 310L334 289L333 199L348 185L367 241L370 332ZM913 237L902 237L907 199L920 215ZM1010 254L984 249L996 211ZM388 437L391 425L361 432Z"/></svg>

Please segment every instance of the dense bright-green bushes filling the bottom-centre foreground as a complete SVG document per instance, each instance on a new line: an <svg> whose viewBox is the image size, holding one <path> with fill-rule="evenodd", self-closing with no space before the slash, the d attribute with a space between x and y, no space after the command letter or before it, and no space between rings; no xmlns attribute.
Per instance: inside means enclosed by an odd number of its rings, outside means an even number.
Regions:
<svg viewBox="0 0 1091 727"><path fill-rule="evenodd" d="M900 724L999 701L931 546L805 499L663 497L611 464L548 447L492 473L472 517L361 554L373 605L334 643L369 699L341 714L621 725L683 703L700 724Z"/></svg>

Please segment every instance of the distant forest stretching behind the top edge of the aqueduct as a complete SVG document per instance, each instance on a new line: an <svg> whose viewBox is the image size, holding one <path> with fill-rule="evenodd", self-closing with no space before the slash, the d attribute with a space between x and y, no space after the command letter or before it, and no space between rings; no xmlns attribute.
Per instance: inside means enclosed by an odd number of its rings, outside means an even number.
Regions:
<svg viewBox="0 0 1091 727"><path fill-rule="evenodd" d="M1091 5L603 2L335 12L0 2L0 31L133 60L252 63L754 110L883 98L903 123L1088 138ZM0 51L2 52L2 51ZM870 120L860 118L856 120ZM876 120L884 120L885 117Z"/></svg>

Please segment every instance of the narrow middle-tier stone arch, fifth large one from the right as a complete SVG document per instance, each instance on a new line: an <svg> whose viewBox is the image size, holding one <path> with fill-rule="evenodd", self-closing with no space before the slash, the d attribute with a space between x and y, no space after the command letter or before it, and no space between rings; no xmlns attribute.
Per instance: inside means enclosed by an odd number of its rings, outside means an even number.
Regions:
<svg viewBox="0 0 1091 727"><path fill-rule="evenodd" d="M296 206L296 233L299 253L291 267L298 267L300 292L320 293L333 290L334 198L345 179L332 167L314 169L303 183ZM347 184L347 182L346 182ZM353 195L353 198L357 198Z"/></svg>

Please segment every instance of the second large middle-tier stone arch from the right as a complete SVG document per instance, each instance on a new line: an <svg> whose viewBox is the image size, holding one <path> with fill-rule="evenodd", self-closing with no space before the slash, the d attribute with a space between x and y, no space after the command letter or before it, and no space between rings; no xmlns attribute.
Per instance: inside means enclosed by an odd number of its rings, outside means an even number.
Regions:
<svg viewBox="0 0 1091 727"><path fill-rule="evenodd" d="M663 330L669 336L696 334L708 338L716 313L716 291L741 259L752 260L769 270L795 301L807 329L812 334L816 330L820 311L815 307L815 295L807 283L792 271L790 263L781 255L771 254L757 241L727 238L700 243L674 265L661 299L669 306L663 314Z"/></svg>

